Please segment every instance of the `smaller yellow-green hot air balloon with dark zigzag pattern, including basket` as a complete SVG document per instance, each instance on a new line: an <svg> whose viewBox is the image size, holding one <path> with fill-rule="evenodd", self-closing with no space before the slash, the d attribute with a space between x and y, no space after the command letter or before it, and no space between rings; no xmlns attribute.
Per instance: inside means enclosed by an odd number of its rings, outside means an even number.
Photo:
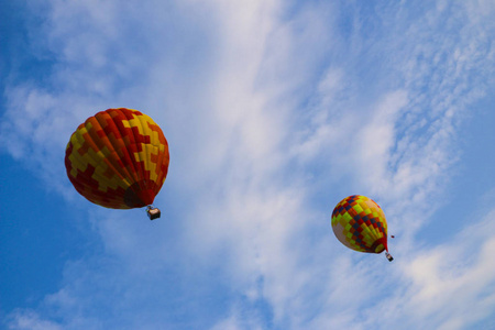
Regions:
<svg viewBox="0 0 495 330"><path fill-rule="evenodd" d="M349 249L367 252L385 252L387 248L387 221L382 208L371 198L352 195L342 199L332 212L332 229L337 239Z"/></svg>

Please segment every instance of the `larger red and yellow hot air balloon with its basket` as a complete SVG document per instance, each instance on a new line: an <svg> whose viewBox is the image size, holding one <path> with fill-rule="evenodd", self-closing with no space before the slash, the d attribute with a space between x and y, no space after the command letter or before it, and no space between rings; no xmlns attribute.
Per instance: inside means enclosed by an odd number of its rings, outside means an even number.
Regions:
<svg viewBox="0 0 495 330"><path fill-rule="evenodd" d="M70 136L65 153L67 176L89 201L112 209L151 205L168 170L168 144L146 114L119 108L98 112Z"/></svg>

